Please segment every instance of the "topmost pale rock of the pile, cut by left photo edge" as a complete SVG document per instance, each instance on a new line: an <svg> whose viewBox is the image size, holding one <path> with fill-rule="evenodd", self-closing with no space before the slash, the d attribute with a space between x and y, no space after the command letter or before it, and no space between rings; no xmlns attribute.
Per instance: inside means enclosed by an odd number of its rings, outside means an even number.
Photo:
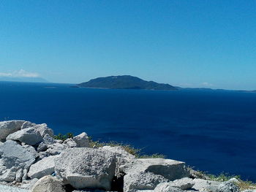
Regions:
<svg viewBox="0 0 256 192"><path fill-rule="evenodd" d="M8 135L13 134L15 131L19 131L23 125L24 120L8 120L0 122L0 142L5 142Z"/></svg>

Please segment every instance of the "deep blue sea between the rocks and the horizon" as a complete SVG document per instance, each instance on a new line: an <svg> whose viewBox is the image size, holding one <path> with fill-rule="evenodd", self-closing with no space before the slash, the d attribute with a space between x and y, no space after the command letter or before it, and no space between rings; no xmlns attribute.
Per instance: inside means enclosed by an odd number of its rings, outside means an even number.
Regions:
<svg viewBox="0 0 256 192"><path fill-rule="evenodd" d="M256 181L256 93L71 88L0 82L0 120L48 123L162 153L213 174Z"/></svg>

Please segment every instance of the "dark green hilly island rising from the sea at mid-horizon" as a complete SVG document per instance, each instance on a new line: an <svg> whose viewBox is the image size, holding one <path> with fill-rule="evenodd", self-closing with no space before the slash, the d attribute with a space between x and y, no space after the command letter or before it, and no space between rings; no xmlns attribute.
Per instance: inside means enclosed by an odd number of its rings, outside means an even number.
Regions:
<svg viewBox="0 0 256 192"><path fill-rule="evenodd" d="M98 77L88 82L82 82L78 86L83 88L178 90L178 88L169 84L146 81L130 75Z"/></svg>

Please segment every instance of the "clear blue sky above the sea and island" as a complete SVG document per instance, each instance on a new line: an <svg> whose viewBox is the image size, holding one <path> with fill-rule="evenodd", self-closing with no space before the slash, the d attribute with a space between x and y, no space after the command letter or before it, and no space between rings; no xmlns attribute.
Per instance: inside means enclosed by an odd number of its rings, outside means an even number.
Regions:
<svg viewBox="0 0 256 192"><path fill-rule="evenodd" d="M256 1L1 0L0 76L256 89Z"/></svg>

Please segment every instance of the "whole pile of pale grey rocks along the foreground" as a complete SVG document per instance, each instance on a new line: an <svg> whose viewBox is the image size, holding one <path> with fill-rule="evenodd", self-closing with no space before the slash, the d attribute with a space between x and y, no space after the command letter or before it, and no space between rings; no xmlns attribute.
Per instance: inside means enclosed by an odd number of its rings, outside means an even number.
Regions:
<svg viewBox="0 0 256 192"><path fill-rule="evenodd" d="M64 141L53 136L45 123L0 122L1 192L240 191L239 180L206 180L181 161L135 158L123 147L91 147L86 133Z"/></svg>

